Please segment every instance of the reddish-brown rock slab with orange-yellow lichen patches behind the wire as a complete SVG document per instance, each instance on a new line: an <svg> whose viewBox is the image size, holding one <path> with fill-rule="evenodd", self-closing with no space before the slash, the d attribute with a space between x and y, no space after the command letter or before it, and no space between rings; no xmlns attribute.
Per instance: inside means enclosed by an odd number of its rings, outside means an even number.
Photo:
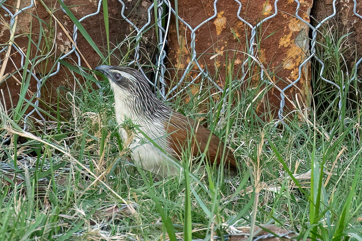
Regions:
<svg viewBox="0 0 362 241"><path fill-rule="evenodd" d="M299 16L308 22L312 0L304 0L300 3ZM275 12L274 1L244 0L241 1L241 5L240 17L252 26L257 25ZM309 27L294 16L297 8L295 1L280 0L277 3L277 8L278 13L273 18L266 20L256 28L254 51L257 53L257 58L268 70L269 81L283 89L298 78L299 65L309 56ZM212 1L203 2L199 5L194 4L192 0L178 1L178 9L180 9L180 17L193 28L214 14ZM207 68L212 76L217 73L216 82L222 86L225 82L225 67L228 61L234 60L235 73L243 68L243 63L247 57L243 52L248 52L251 27L237 17L239 4L236 1L220 0L216 3L216 9L216 16L195 32L195 50L201 68ZM181 22L179 26L180 36L177 36L175 23L171 24L169 58L171 65L176 67L177 75L180 77L187 66L186 63L191 59L191 31L185 29ZM177 38L180 38L181 46ZM210 56L215 55L215 53L220 53L220 55L210 60ZM197 66L194 66L193 69L199 70ZM255 69L255 71L260 72L260 68ZM195 76L196 74L191 72L188 81ZM241 78L241 73L238 72L237 76ZM297 98L302 107L303 105L304 107L310 105L310 78L310 63L308 62L302 68L300 80L294 87L285 91L285 113L294 109L296 94L298 94ZM262 81L258 75L251 79L256 83ZM280 91L277 88L271 88L267 98L258 104L258 113L270 111L271 116L269 117L275 117L280 106L280 100Z"/></svg>

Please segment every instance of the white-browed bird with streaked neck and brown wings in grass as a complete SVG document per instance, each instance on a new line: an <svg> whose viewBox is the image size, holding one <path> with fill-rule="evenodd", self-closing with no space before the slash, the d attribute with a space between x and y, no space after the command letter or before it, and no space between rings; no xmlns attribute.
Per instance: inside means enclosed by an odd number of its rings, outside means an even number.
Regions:
<svg viewBox="0 0 362 241"><path fill-rule="evenodd" d="M94 70L110 83L119 133L123 143L129 143L135 164L161 177L176 175L180 168L174 165L175 159L180 159L191 143L193 156L207 149L206 159L211 164L219 165L224 159L230 169L236 170L231 149L224 148L224 143L209 129L158 99L138 70L109 65Z"/></svg>

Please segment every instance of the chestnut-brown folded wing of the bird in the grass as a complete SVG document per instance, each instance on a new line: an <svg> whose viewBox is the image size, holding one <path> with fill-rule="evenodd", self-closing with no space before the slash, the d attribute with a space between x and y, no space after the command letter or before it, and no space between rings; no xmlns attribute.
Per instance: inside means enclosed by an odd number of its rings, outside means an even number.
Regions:
<svg viewBox="0 0 362 241"><path fill-rule="evenodd" d="M177 112L172 113L169 122L165 123L165 126L166 132L168 133L168 140L177 155L181 155L182 150L187 147L186 145L191 143L191 145L193 145L193 155L198 156L205 151L210 139L209 148L207 149L206 154L211 164L213 164L215 160L218 165L220 164L224 143L220 141L219 137L211 133L209 129L206 129L202 125L197 125L192 119ZM225 152L224 160L226 165L230 165L230 168L236 169L235 158L232 151L226 147Z"/></svg>

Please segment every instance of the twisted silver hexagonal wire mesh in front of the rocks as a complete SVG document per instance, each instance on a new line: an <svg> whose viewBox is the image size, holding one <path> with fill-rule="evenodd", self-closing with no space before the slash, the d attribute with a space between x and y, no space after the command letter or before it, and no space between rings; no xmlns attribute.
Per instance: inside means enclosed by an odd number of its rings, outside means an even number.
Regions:
<svg viewBox="0 0 362 241"><path fill-rule="evenodd" d="M245 20L243 17L240 16L240 10L243 8L243 5L241 4L240 1L238 0L234 0L238 5L239 5L239 9L237 11L237 18L244 23L246 26L248 26L248 28L251 29L251 36L249 38L249 49L248 49L248 55L254 57L253 59L255 60L257 57L257 51L255 51L255 48L257 46L256 43L256 30L258 29L258 27L260 27L262 24L268 22L271 20L271 18L274 18L275 16L277 16L277 14L279 14L279 10L278 10L278 1L279 0L275 0L274 1L274 13L271 14L269 17L266 17L264 19L262 19L260 22L257 22L256 24L252 24L250 22L248 22L247 20ZM322 20L317 26L313 26L311 25L311 23L307 22L306 20L304 20L302 17L299 16L299 11L300 11L300 1L299 0L294 0L295 3L297 4L297 7L295 9L295 17L302 21L303 23L305 23L307 26L310 27L310 29L312 30L312 38L311 38L311 48L310 48L310 55L307 57L306 60L303 61L303 63L301 63L299 65L299 73L298 73L298 78L292 80L292 82L287 85L286 87L284 87L283 89L278 88L277 86L273 86L274 88L277 88L278 91L280 92L280 107L279 107L279 111L278 111L278 117L279 117L279 121L283 120L283 109L285 107L285 97L286 94L285 92L292 88L294 85L296 85L296 83L298 83L300 81L301 78L301 74L302 74L302 68L303 66L308 63L308 61L311 60L311 58L315 58L321 65L321 70L319 73L319 77L321 79L323 79L323 81L325 81L326 83L334 86L336 88L336 90L339 93L342 93L344 91L345 85L341 86L338 83L334 82L332 79L326 79L323 77L323 73L324 73L324 61L322 61L317 55L316 55L316 44L317 44L317 33L320 29L320 27L327 22L328 20L330 20L331 18L333 18L336 15L336 1L337 0L333 0L333 13L331 15L329 15L328 17L326 17L324 20ZM15 21L15 17L18 14L22 14L22 12L26 11L27 9L33 7L34 5L34 1L31 0L30 1L30 5L26 6L22 9L20 9L17 13L13 13L11 12L7 7L5 7L5 3L7 2L7 0L5 1L1 1L0 2L0 6L1 8L3 8L11 17L10 18L10 33L12 31L12 26L14 24ZM129 23L129 25L134 29L135 33L136 33L136 47L134 50L134 59L130 62L131 64L136 64L138 66L141 66L139 63L139 50L140 50L140 39L142 38L142 33L144 30L146 30L148 27L150 27L151 22L152 22L152 10L154 9L154 3L151 4L151 6L148 8L148 20L147 22L140 28L138 28L135 23L133 23L129 18L127 18L124 14L124 10L125 10L125 3L122 0L118 0L119 4L122 5L122 12L121 12L121 16L122 18L127 21L127 23ZM214 85L216 87L216 89L223 91L223 89L217 84L215 83L215 81L210 77L209 73L207 72L207 70L205 68L202 67L202 65L199 63L198 57L197 57L197 52L196 52L196 47L197 47L197 42L195 41L196 36L197 36L197 31L200 29L200 27L202 27L203 25L206 25L208 22L212 21L217 13L218 13L218 9L216 7L216 3L218 2L218 0L214 0L213 6L214 6L214 14L212 16L210 16L209 18L206 18L205 20L203 20L199 25L197 25L196 27L191 27L191 25L186 22L185 20L183 20L180 16L178 16L178 20L180 21L181 24L183 24L187 29L190 30L190 49L191 49L191 58L189 63L187 64L184 73L182 74L181 78L179 79L179 81L174 85L174 86L169 86L169 91L166 92L167 86L166 86L166 82L165 82L165 78L164 78L164 74L166 71L166 67L165 67L165 58L166 58L166 51L165 51L165 46L167 44L167 35L168 35L168 29L169 29L169 24L170 24L170 18L171 16L176 16L176 11L175 9L172 7L171 3L169 0L158 0L157 1L157 26L158 26L158 35L159 35L159 43L157 44L157 48L158 48L158 55L157 55L157 60L156 60L156 66L157 66L157 72L156 72L156 78L155 81L151 82L153 86L156 87L156 89L159 92L159 95L161 96L161 98L163 98L166 101L172 100L174 97L176 97L177 95L179 95L182 91L184 91L187 87L189 87L190 85L192 85L195 81L195 79L197 79L198 77L202 76L204 79L207 79L212 85ZM98 1L98 7L96 12L88 14L87 16L84 16L82 18L79 19L79 22L84 21L85 19L94 16L96 14L100 13L100 8L101 8L101 3L102 0ZM353 14L355 16L357 16L358 18L362 19L362 16L360 14L357 13L357 1L353 0L354 3L354 7L353 7ZM164 6L166 6L167 8L164 8ZM167 21L166 25L163 25L163 16L165 16L165 14L163 13L164 9L168 9L168 13L167 16ZM64 10L63 10L64 11ZM77 44L77 34L78 34L78 28L76 25L73 26L73 42L75 44ZM25 54L24 52L19 49L16 44L12 44L12 47L17 51L18 54L21 55L21 68L24 68L24 58L25 58ZM6 51L8 48L8 46L5 47L1 47L0 49L0 53L3 51ZM62 56L59 57L60 60L64 59L65 57L71 55L72 53L75 53L75 55L77 56L77 64L79 66L81 66L81 58L79 53L76 50L76 46L73 44L72 45L72 49L67 52L64 53ZM1 61L1 60L0 60ZM245 60L244 65L246 66L247 61L250 61L250 59ZM360 59L357 60L357 62L355 63L355 65L353 66L353 76L349 79L349 81L353 81L357 78L357 68L359 66L359 64L361 64L362 62L362 57ZM1 63L0 63L1 64ZM180 88L180 86L184 83L186 76L188 75L190 69L191 69L191 65L195 64L197 66L197 68L199 69L199 74L193 78L191 81L189 81L185 86L183 86L182 88ZM245 68L245 67L243 67ZM57 68L56 70L54 70L54 72L50 73L47 78L56 75L59 72L60 69L60 63L57 63ZM30 73L33 78L37 81L37 91L36 91L36 100L34 102L34 106L38 107L39 105L39 98L41 98L42 95L42 90L41 90L41 86L42 86L42 78L37 78L37 76L35 75L35 73L31 72L30 69L26 69L26 71L28 73ZM142 71L142 68L140 67L140 71ZM243 74L245 76L246 70L243 69ZM272 85L273 83L271 83L270 81L268 81L268 79L265 77L265 73L264 70L261 70L261 74L260 74L260 78L265 81L266 84L268 85ZM228 91L228 89L226 90L226 92ZM339 100L339 111L341 111L341 103L342 103L342 96L340 94L340 100ZM37 108L34 108L30 113L28 113L24 119L25 119L25 123L26 120L28 119L28 117L30 115L32 115L33 113L37 112L38 115L41 117L41 119L44 120L44 117L42 116L42 114L37 110ZM24 125L24 129L26 128L26 124Z"/></svg>

